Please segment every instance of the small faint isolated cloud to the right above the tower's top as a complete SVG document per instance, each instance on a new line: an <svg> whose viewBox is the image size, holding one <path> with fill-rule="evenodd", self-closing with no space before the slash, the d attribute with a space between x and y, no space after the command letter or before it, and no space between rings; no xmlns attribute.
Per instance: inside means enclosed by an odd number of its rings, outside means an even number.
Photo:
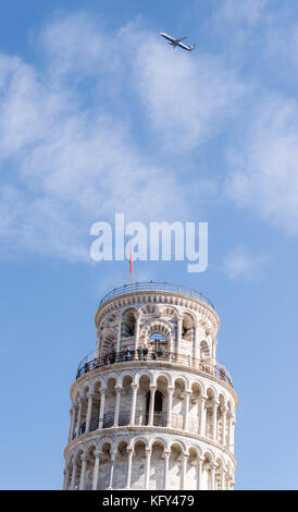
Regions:
<svg viewBox="0 0 298 512"><path fill-rule="evenodd" d="M254 281L269 261L264 255L252 255L245 247L237 246L226 255L223 261L223 270L231 280Z"/></svg>

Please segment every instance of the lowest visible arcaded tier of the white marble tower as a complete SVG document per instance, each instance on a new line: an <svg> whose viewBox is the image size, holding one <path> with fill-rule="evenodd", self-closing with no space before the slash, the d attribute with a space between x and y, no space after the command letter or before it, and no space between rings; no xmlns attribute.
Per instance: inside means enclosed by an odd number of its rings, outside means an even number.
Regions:
<svg viewBox="0 0 298 512"><path fill-rule="evenodd" d="M231 490L234 472L232 454L198 437L117 427L72 441L64 489Z"/></svg>

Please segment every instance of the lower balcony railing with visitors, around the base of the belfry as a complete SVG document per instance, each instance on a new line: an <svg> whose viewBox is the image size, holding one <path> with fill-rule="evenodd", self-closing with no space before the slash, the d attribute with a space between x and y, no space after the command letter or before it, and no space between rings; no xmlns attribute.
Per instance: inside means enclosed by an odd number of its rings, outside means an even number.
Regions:
<svg viewBox="0 0 298 512"><path fill-rule="evenodd" d="M97 351L91 352L86 356L79 364L77 373L76 373L76 378L78 379L82 377L82 375L88 374L89 371L92 371L96 368L100 368L103 366L111 366L114 364L119 363L131 363L133 361L150 361L150 364L154 364L154 362L169 362L172 364L178 364L183 366L188 366L191 369L196 369L198 371L202 371L204 374L212 375L216 377L218 379L223 380L231 387L233 387L232 383L232 377L229 371L226 369L224 365L221 363L216 362L215 365L211 365L209 363L206 363L204 361L201 359L195 359L195 357L191 357L190 355L182 355L182 354L175 354L172 352L167 351L153 351L150 350L147 355L139 356L137 351L129 351L129 353L115 353L111 352L109 354L105 354L101 357L97 357Z"/></svg>

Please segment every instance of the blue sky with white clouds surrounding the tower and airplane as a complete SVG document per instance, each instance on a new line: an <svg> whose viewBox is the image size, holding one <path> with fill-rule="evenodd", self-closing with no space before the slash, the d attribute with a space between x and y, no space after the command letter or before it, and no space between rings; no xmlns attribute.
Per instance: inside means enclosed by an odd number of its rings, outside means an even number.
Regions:
<svg viewBox="0 0 298 512"><path fill-rule="evenodd" d="M209 222L206 272L136 278L215 304L236 488L297 488L297 42L287 0L1 5L1 488L62 486L69 390L100 297L129 282L127 261L89 257L116 211Z"/></svg>

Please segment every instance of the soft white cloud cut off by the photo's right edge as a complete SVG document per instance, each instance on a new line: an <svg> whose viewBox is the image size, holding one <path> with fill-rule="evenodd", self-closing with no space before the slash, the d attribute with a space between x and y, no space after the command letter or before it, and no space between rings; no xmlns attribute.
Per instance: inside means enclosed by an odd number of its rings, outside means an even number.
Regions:
<svg viewBox="0 0 298 512"><path fill-rule="evenodd" d="M233 171L227 194L241 207L290 233L298 233L298 106L271 97L252 112L238 151L229 153Z"/></svg>

